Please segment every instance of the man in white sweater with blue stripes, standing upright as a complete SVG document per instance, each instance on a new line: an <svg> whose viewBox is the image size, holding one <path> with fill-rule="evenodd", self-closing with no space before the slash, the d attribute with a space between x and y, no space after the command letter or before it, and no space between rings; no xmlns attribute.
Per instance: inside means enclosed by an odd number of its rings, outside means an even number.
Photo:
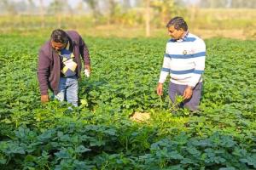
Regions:
<svg viewBox="0 0 256 170"><path fill-rule="evenodd" d="M163 94L163 83L170 74L169 97L172 102L175 102L177 95L182 95L182 106L197 111L201 99L206 44L201 38L189 33L182 17L172 18L166 27L172 38L166 44L157 94Z"/></svg>

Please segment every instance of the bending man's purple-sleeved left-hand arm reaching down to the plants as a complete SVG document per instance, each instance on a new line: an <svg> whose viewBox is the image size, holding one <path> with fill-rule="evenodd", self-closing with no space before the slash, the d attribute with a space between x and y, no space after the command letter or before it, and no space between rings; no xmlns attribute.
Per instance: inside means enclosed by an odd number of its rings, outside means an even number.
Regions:
<svg viewBox="0 0 256 170"><path fill-rule="evenodd" d="M42 50L39 51L38 59L38 82L41 93L41 101L49 101L48 96L48 78L49 78L49 58L44 54Z"/></svg>

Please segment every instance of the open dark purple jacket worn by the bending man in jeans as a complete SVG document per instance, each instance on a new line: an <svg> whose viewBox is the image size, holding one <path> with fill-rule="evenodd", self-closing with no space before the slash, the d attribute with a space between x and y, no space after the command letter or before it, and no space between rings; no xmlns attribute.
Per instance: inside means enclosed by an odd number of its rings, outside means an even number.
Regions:
<svg viewBox="0 0 256 170"><path fill-rule="evenodd" d="M84 65L90 65L90 55L84 40L77 31L66 31L69 37L69 43L73 48L73 54L77 61L77 75L80 77L82 62ZM61 77L61 60L59 54L51 47L50 40L45 42L40 48L38 59L38 82L41 95L48 94L51 89L54 94L58 94L58 87Z"/></svg>

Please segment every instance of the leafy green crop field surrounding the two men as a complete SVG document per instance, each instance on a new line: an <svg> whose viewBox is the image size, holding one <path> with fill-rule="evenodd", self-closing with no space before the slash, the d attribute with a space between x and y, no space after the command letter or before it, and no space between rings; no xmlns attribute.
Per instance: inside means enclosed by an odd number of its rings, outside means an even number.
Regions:
<svg viewBox="0 0 256 170"><path fill-rule="evenodd" d="M37 36L38 35L38 36ZM44 36L43 36L44 35ZM0 169L255 169L256 42L207 39L201 111L155 93L166 38L84 37L80 105L40 104L45 33L0 35ZM132 122L134 111L148 122Z"/></svg>

